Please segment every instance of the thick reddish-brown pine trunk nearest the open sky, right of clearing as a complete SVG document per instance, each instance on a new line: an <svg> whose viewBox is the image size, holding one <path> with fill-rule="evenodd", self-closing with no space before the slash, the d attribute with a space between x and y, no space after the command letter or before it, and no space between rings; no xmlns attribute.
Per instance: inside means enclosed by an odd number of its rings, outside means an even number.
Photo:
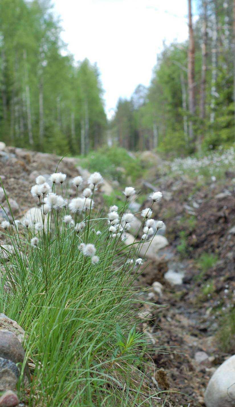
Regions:
<svg viewBox="0 0 235 407"><path fill-rule="evenodd" d="M192 25L191 0L188 0L189 15L189 48L188 48L188 94L189 94L189 112L191 117L195 114L195 43L194 30ZM192 119L189 121L189 138L194 141L194 130Z"/></svg>

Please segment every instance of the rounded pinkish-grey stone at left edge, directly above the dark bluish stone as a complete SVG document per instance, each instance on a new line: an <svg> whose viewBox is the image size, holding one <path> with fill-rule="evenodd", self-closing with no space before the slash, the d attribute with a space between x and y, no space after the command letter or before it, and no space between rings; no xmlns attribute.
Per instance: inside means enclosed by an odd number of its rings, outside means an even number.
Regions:
<svg viewBox="0 0 235 407"><path fill-rule="evenodd" d="M14 363L23 363L24 349L15 333L0 329L0 357Z"/></svg>

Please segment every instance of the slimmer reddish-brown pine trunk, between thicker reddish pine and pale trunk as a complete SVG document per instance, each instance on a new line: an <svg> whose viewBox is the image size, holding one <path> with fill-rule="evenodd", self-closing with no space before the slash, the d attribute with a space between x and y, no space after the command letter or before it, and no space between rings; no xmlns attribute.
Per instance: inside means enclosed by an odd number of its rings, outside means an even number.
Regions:
<svg viewBox="0 0 235 407"><path fill-rule="evenodd" d="M203 5L203 20L202 20L202 74L201 74L201 89L200 89L200 119L202 125L198 140L198 150L201 151L202 139L204 137L204 120L206 115L206 74L207 74L207 0L202 1Z"/></svg>

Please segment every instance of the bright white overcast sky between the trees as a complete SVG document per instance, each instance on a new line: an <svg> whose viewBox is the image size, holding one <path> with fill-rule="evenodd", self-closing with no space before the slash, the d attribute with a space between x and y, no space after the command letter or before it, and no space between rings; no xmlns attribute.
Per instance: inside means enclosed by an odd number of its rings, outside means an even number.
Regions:
<svg viewBox="0 0 235 407"><path fill-rule="evenodd" d="M157 54L187 38L187 0L54 0L75 60L97 62L108 117L118 98L149 85Z"/></svg>

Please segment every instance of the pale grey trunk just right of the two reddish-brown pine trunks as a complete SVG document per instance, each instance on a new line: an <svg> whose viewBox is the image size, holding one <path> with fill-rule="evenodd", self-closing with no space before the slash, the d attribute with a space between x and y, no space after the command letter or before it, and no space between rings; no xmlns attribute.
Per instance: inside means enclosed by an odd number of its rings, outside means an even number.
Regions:
<svg viewBox="0 0 235 407"><path fill-rule="evenodd" d="M216 79L217 79L217 30L218 30L218 10L217 10L217 1L214 2L215 11L213 14L213 33L212 33L212 57L211 57L211 114L210 122L214 123L215 121L215 98L217 97L216 93Z"/></svg>

